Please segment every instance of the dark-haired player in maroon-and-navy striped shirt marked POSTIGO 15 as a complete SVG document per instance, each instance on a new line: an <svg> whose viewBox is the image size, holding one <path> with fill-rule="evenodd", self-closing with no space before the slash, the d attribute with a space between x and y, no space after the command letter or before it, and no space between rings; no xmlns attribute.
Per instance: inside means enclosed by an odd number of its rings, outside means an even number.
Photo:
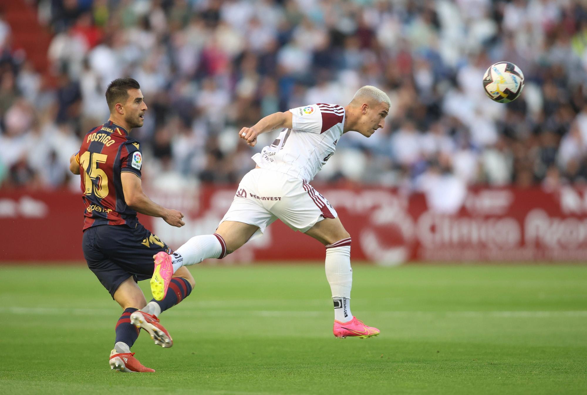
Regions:
<svg viewBox="0 0 587 395"><path fill-rule="evenodd" d="M130 347L141 328L155 344L171 347L173 340L158 315L187 297L195 282L187 269L177 270L170 282L173 292L147 304L137 281L153 276L153 255L172 251L141 225L137 212L161 217L177 227L184 225L183 214L157 205L143 192L141 146L130 137L133 128L143 126L147 111L139 83L132 78L115 79L106 90L106 102L110 118L86 134L79 152L70 159L70 170L82 175L83 254L87 266L124 310L115 327L110 368L154 371L140 364Z"/></svg>

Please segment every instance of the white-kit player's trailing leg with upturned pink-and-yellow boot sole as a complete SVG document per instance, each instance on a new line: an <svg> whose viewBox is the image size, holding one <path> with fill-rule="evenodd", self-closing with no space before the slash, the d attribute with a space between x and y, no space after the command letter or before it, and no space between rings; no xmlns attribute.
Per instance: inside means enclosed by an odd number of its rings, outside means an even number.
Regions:
<svg viewBox="0 0 587 395"><path fill-rule="evenodd" d="M173 273L177 273L180 267L196 265L207 258L222 259L244 245L257 230L259 227L255 225L226 220L220 223L216 233L192 237L173 255L157 253L151 279L154 299L163 300L166 297Z"/></svg>

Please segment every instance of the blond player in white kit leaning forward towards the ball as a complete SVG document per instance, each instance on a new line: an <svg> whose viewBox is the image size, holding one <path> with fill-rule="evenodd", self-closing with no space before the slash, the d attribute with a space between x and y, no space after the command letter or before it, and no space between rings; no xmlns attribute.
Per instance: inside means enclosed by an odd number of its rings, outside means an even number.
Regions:
<svg viewBox="0 0 587 395"><path fill-rule="evenodd" d="M386 93L367 85L344 108L317 103L276 112L251 128L242 128L239 137L250 146L257 143L261 133L279 128L282 131L271 145L252 157L257 166L242 178L216 233L192 237L173 255L154 256L151 291L155 299L163 299L173 272L181 266L206 258L222 259L248 240L262 236L268 225L280 219L326 246L326 279L335 307L335 336L377 336L379 329L363 324L350 313L350 235L334 207L309 182L335 153L336 143L344 133L354 130L371 136L383 128L389 107ZM149 305L145 307L147 312Z"/></svg>

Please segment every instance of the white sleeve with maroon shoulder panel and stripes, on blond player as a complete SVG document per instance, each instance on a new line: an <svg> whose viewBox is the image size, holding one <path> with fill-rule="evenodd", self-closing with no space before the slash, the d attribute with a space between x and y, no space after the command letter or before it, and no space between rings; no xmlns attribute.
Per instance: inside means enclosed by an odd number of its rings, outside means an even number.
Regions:
<svg viewBox="0 0 587 395"><path fill-rule="evenodd" d="M343 122L345 109L335 104L316 103L292 108L292 124L296 130L321 134Z"/></svg>

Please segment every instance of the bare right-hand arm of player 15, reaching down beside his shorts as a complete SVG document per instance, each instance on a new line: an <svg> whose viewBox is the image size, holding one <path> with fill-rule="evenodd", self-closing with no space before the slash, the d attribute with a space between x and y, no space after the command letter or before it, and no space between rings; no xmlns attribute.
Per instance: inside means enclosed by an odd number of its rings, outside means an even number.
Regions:
<svg viewBox="0 0 587 395"><path fill-rule="evenodd" d="M166 209L145 195L139 176L131 172L122 172L120 173L120 181L122 182L124 201L131 209L151 217L161 217L171 226L182 227L185 225L185 222L181 220L183 218L181 212Z"/></svg>

